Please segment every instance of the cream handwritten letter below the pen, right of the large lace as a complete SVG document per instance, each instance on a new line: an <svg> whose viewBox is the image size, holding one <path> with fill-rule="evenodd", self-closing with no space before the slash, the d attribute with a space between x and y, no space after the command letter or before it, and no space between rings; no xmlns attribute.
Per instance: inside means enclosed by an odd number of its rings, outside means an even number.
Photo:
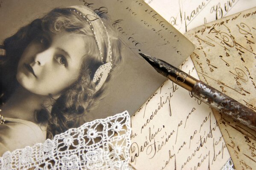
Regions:
<svg viewBox="0 0 256 170"><path fill-rule="evenodd" d="M197 76L188 58L182 70ZM138 170L221 169L230 158L211 108L167 80L132 116L130 159Z"/></svg>

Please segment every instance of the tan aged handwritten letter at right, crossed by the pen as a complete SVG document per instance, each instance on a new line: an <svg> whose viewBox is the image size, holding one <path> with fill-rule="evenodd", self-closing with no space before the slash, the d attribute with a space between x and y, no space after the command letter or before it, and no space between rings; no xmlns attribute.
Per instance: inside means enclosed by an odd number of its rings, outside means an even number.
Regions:
<svg viewBox="0 0 256 170"><path fill-rule="evenodd" d="M256 111L256 8L186 33L200 80ZM237 169L256 168L256 132L216 113Z"/></svg>

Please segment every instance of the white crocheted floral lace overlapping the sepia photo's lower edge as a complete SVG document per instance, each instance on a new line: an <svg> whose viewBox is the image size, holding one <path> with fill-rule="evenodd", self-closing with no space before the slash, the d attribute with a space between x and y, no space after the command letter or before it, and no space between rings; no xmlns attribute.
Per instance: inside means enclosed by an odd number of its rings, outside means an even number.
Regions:
<svg viewBox="0 0 256 170"><path fill-rule="evenodd" d="M96 119L47 139L43 144L7 151L3 170L127 170L130 117L127 111Z"/></svg>

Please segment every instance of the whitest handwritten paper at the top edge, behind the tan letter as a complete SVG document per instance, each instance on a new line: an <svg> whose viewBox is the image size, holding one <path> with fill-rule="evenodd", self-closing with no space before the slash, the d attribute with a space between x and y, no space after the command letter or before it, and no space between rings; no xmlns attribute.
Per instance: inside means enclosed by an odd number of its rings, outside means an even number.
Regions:
<svg viewBox="0 0 256 170"><path fill-rule="evenodd" d="M255 0L145 0L181 32L256 6ZM250 4L250 6L249 6Z"/></svg>

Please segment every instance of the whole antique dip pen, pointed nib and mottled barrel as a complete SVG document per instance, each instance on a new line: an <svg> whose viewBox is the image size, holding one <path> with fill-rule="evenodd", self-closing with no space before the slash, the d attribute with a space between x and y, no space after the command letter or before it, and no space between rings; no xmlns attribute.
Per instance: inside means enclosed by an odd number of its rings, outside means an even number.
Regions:
<svg viewBox="0 0 256 170"><path fill-rule="evenodd" d="M250 108L247 108L231 97L221 93L204 82L191 77L189 74L186 74L161 59L156 59L147 54L139 54L146 59L156 71L175 82L177 85L190 91L195 98L208 104L212 108L215 108L221 113L231 116L232 119L241 124L256 130L256 112Z"/></svg>

